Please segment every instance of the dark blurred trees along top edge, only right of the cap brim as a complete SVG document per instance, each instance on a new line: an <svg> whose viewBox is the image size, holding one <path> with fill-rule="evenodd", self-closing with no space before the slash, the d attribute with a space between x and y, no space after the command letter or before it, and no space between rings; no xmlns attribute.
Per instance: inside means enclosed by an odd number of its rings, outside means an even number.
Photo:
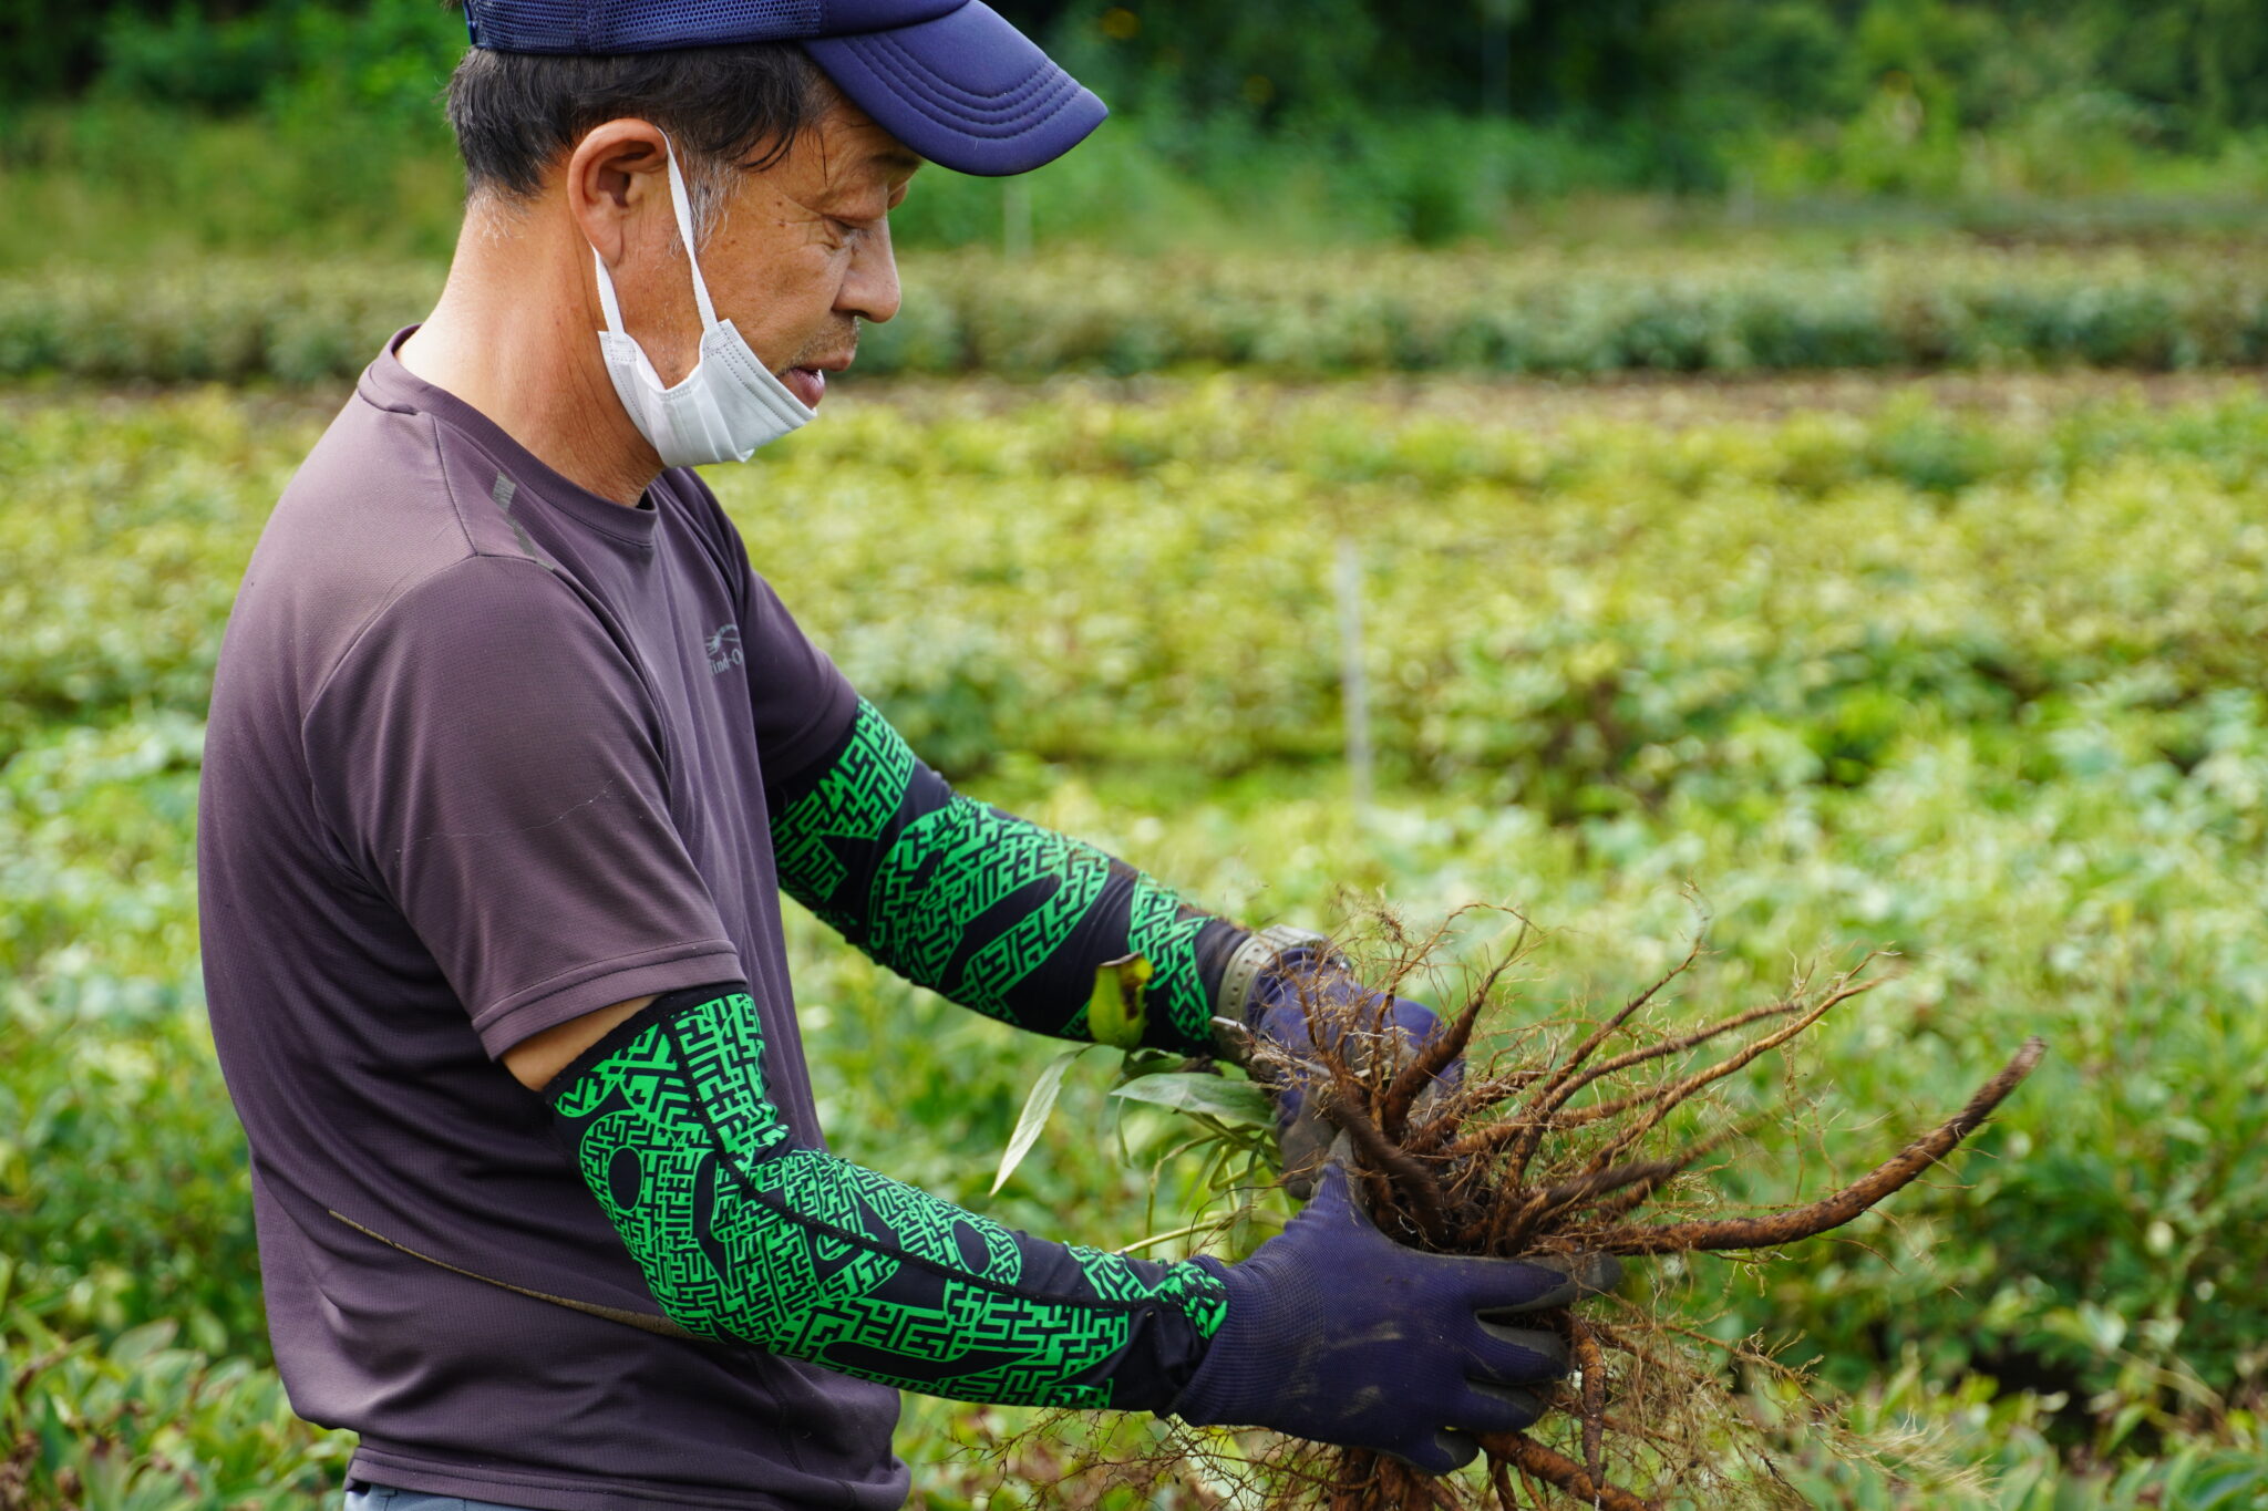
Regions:
<svg viewBox="0 0 2268 1511"><path fill-rule="evenodd" d="M1159 113L1365 120L1449 106L1708 138L1851 122L1912 93L1916 131L2105 97L2184 143L2268 122L2268 18L2241 0L1025 0L1002 7L1111 100ZM1939 120L1941 118L1941 120Z"/></svg>

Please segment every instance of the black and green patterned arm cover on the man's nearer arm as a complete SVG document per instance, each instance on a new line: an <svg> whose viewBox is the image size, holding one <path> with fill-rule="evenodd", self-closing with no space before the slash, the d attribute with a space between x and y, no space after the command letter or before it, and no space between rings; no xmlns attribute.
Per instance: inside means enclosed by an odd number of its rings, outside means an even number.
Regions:
<svg viewBox="0 0 2268 1511"><path fill-rule="evenodd" d="M662 1312L928 1395L1163 1411L1227 1316L1200 1264L1050 1244L796 1144L742 983L669 992L547 1087Z"/></svg>

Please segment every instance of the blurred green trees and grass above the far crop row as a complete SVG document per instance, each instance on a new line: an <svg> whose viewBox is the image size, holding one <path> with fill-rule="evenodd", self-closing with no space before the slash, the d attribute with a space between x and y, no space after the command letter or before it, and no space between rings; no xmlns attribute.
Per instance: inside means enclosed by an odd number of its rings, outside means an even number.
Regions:
<svg viewBox="0 0 2268 1511"><path fill-rule="evenodd" d="M2250 0L1025 0L1116 104L1012 186L928 174L907 247L1529 240L1599 197L2055 229L2243 222L2268 188ZM0 0L0 265L442 256L435 0ZM1921 208L1916 208L1921 206ZM1628 231L1644 236L1644 229Z"/></svg>

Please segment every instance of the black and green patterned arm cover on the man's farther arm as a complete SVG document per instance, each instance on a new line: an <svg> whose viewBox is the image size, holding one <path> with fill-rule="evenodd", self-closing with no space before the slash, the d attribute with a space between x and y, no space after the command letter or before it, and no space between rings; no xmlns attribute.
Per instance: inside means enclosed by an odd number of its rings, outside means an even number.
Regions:
<svg viewBox="0 0 2268 1511"><path fill-rule="evenodd" d="M1095 970L1139 954L1152 970L1141 1042L1216 1053L1220 979L1247 931L1093 845L962 797L871 702L767 797L787 895L914 985L1091 1040Z"/></svg>

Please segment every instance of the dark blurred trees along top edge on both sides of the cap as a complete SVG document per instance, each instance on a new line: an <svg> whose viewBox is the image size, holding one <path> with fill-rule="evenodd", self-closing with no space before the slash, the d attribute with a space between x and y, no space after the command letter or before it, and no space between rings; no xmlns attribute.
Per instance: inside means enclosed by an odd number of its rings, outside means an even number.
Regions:
<svg viewBox="0 0 2268 1511"><path fill-rule="evenodd" d="M2268 125L2268 16L2243 0L1002 0L1107 100L1157 120L1345 127L1413 109L1631 120L1672 136L1912 134L2041 106L2184 147ZM9 0L9 97L424 106L465 41L435 0ZM1690 154L1708 163L1708 147ZM1721 165L1717 165L1721 172Z"/></svg>

